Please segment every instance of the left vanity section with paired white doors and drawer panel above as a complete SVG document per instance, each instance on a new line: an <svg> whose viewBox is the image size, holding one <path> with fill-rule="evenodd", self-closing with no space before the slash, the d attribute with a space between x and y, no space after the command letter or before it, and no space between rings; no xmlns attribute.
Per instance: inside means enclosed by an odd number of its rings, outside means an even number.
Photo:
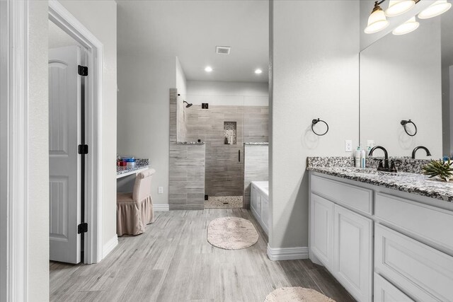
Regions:
<svg viewBox="0 0 453 302"><path fill-rule="evenodd" d="M310 252L357 301L372 301L372 220L338 203L368 211L368 193L311 178ZM365 203L357 198L361 195Z"/></svg>

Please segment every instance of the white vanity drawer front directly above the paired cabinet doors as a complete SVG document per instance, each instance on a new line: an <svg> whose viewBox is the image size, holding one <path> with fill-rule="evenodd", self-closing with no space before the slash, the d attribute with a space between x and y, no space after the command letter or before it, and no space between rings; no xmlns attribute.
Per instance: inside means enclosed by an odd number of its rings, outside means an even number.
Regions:
<svg viewBox="0 0 453 302"><path fill-rule="evenodd" d="M343 204L365 214L372 214L372 190L311 175L311 192L316 192L337 204Z"/></svg>

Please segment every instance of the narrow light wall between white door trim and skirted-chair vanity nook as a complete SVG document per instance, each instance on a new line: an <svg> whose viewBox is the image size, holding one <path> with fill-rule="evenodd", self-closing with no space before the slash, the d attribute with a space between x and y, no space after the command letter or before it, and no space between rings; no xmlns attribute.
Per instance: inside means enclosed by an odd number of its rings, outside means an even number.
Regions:
<svg viewBox="0 0 453 302"><path fill-rule="evenodd" d="M103 244L116 236L117 53L116 2L61 1L104 46L103 98ZM46 25L47 28L47 25Z"/></svg>

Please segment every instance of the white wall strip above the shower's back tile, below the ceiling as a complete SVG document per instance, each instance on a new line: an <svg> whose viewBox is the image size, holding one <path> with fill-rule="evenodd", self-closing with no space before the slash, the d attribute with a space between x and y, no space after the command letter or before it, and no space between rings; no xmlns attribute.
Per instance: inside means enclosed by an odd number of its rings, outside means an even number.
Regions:
<svg viewBox="0 0 453 302"><path fill-rule="evenodd" d="M186 98L194 105L268 106L268 86L255 82L188 81Z"/></svg>

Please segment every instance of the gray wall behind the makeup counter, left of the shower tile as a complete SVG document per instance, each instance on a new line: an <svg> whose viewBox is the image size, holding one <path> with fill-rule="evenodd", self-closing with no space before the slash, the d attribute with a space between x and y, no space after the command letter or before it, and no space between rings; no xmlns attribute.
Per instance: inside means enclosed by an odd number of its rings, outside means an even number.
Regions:
<svg viewBox="0 0 453 302"><path fill-rule="evenodd" d="M117 152L149 158L156 169L153 202L168 204L169 89L176 87L176 59L118 54L118 70Z"/></svg>

